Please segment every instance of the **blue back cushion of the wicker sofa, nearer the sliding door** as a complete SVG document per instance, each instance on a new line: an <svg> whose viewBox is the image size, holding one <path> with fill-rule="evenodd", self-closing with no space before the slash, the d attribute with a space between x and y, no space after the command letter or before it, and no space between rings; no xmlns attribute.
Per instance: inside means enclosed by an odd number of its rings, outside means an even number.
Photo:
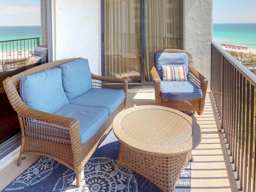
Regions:
<svg viewBox="0 0 256 192"><path fill-rule="evenodd" d="M92 89L92 77L88 59L78 59L60 65L62 84L68 100Z"/></svg>

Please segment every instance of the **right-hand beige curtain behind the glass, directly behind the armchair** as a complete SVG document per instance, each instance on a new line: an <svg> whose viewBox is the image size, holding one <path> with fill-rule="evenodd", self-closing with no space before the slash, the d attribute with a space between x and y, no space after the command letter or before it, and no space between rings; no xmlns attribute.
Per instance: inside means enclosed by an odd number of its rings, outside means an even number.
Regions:
<svg viewBox="0 0 256 192"><path fill-rule="evenodd" d="M178 48L179 0L145 0L146 81L151 81L149 53ZM176 40L174 40L176 39Z"/></svg>

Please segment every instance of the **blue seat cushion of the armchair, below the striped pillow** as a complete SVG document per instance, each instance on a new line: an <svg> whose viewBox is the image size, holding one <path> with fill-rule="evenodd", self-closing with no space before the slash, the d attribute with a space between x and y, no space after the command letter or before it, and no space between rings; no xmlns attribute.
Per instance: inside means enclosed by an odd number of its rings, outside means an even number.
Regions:
<svg viewBox="0 0 256 192"><path fill-rule="evenodd" d="M202 98L202 90L191 80L161 81L162 99L166 100L195 100Z"/></svg>

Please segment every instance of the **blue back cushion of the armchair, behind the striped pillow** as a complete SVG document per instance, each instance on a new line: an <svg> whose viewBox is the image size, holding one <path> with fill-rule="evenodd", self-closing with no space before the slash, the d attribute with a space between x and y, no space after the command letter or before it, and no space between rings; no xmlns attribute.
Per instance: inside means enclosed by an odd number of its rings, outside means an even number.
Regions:
<svg viewBox="0 0 256 192"><path fill-rule="evenodd" d="M185 66L187 79L189 79L188 73L188 54L186 53L157 53L155 56L156 71L163 80L162 65L166 66Z"/></svg>

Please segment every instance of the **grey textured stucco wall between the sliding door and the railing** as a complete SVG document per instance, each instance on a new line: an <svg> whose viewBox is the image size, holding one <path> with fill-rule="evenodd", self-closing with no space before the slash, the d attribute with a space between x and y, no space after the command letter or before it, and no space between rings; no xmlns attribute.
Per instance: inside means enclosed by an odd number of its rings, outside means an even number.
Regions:
<svg viewBox="0 0 256 192"><path fill-rule="evenodd" d="M212 0L185 1L185 50L192 53L196 68L208 78L212 42Z"/></svg>

